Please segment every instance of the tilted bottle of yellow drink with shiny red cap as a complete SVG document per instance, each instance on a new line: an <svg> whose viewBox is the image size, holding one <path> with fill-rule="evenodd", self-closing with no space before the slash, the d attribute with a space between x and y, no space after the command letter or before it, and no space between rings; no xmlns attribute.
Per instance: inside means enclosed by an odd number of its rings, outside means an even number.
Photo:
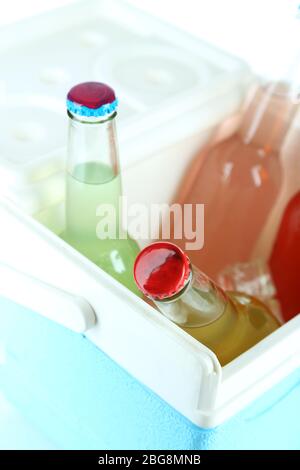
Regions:
<svg viewBox="0 0 300 470"><path fill-rule="evenodd" d="M135 261L141 292L225 365L275 331L279 321L258 299L224 292L176 245L157 242Z"/></svg>

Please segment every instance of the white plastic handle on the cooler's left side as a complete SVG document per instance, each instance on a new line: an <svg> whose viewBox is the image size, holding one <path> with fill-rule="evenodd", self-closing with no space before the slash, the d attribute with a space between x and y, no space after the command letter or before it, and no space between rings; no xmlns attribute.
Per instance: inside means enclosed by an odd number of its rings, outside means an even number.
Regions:
<svg viewBox="0 0 300 470"><path fill-rule="evenodd" d="M84 333L96 323L93 308L83 297L66 292L0 263L0 296Z"/></svg>

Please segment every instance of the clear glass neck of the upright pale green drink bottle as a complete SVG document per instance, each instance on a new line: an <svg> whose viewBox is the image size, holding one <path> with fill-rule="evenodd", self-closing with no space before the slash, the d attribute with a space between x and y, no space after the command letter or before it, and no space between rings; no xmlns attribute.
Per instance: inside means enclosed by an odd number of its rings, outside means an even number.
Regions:
<svg viewBox="0 0 300 470"><path fill-rule="evenodd" d="M105 120L81 121L68 113L68 173L88 184L103 184L119 175L115 112Z"/></svg>

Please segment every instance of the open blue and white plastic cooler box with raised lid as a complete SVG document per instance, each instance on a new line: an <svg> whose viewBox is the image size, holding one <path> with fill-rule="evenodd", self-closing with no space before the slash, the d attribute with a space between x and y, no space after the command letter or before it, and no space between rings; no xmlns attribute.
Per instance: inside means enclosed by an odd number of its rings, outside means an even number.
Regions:
<svg viewBox="0 0 300 470"><path fill-rule="evenodd" d="M58 237L71 85L116 88L124 192L165 203L214 128L236 128L247 67L118 1L79 2L1 39L6 397L65 449L299 449L300 315L222 368Z"/></svg>

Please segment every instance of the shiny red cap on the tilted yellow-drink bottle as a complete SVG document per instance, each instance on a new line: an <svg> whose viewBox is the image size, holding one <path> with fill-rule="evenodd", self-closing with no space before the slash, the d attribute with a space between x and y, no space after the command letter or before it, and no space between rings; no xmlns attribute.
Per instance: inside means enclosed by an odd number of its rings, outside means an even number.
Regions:
<svg viewBox="0 0 300 470"><path fill-rule="evenodd" d="M186 284L191 265L186 254L173 243L157 242L144 248L134 264L138 288L152 299L166 299Z"/></svg>

